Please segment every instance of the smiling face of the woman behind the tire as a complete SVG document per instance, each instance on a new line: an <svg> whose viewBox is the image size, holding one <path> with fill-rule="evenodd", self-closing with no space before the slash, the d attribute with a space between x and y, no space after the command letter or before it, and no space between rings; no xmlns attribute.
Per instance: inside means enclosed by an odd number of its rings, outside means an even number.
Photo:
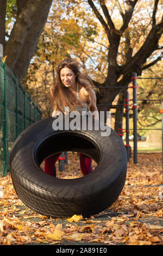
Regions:
<svg viewBox="0 0 163 256"><path fill-rule="evenodd" d="M63 68L60 70L60 79L65 87L75 87L76 75L69 68Z"/></svg>

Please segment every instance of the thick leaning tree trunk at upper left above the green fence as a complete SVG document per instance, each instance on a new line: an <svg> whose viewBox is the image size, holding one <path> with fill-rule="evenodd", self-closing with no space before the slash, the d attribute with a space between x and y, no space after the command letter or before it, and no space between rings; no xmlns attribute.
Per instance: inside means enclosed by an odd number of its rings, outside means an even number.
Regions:
<svg viewBox="0 0 163 256"><path fill-rule="evenodd" d="M21 1L17 1L17 4ZM4 48L7 65L22 78L28 69L39 36L45 26L52 0L29 0L19 6L17 19Z"/></svg>

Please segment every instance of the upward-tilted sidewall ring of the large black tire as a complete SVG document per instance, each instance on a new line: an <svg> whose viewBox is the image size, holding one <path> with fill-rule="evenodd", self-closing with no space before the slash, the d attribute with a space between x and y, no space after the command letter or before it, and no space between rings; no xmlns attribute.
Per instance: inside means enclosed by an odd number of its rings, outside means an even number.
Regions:
<svg viewBox="0 0 163 256"><path fill-rule="evenodd" d="M100 161L93 172L81 178L55 178L44 173L35 160L35 150L40 142L47 137L70 132L54 131L53 120L46 118L36 122L16 139L10 154L13 184L18 183L24 190L45 200L93 205L103 197L103 204L111 205L121 193L126 179L127 154L122 139L112 129L108 137L102 137L101 131L73 131L77 136L92 139L98 145L101 151ZM19 168L21 166L23 168ZM111 199L107 199L108 193L112 193Z"/></svg>

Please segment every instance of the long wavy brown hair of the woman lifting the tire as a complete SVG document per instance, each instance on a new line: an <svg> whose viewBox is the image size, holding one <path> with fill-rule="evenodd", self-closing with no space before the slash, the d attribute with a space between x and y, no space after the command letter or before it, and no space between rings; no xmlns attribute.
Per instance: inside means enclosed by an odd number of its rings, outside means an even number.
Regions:
<svg viewBox="0 0 163 256"><path fill-rule="evenodd" d="M72 59L63 60L57 67L56 77L51 92L53 95L54 105L57 110L64 112L64 106L69 107L70 111L77 110L77 107L83 107L84 103L74 97L72 90L65 87L60 79L60 71L63 68L69 68L76 75L76 82L85 87L87 92L94 88L91 78L79 71L78 62Z"/></svg>

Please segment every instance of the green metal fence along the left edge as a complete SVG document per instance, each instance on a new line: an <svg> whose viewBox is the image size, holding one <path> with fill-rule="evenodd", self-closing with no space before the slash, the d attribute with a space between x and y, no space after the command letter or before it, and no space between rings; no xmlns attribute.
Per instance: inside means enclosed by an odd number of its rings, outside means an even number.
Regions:
<svg viewBox="0 0 163 256"><path fill-rule="evenodd" d="M0 57L0 174L7 175L17 136L40 119L41 111Z"/></svg>

